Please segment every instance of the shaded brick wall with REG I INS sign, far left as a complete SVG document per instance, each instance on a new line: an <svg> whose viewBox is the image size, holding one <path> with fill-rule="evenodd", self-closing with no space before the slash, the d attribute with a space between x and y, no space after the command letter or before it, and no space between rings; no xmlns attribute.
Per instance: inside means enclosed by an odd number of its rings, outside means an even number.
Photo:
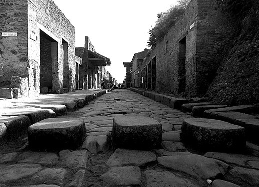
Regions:
<svg viewBox="0 0 259 187"><path fill-rule="evenodd" d="M17 37L2 32L17 32ZM27 1L0 1L0 87L9 87L11 76L27 77L27 40Z"/></svg>

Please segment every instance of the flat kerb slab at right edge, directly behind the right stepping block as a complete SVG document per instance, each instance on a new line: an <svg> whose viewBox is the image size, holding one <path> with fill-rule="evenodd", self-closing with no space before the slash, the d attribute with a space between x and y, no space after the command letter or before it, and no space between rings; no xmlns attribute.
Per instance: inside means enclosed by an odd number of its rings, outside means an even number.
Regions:
<svg viewBox="0 0 259 187"><path fill-rule="evenodd" d="M213 112L211 118L216 120L226 121L232 124L236 124L237 119L258 119L256 116L244 114L241 112Z"/></svg>

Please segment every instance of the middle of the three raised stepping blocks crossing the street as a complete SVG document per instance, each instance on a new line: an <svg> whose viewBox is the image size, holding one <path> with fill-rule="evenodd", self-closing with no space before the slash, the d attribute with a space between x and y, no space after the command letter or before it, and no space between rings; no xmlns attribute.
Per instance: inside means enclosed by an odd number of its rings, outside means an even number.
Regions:
<svg viewBox="0 0 259 187"><path fill-rule="evenodd" d="M162 140L161 124L149 117L119 117L113 119L112 147L151 150Z"/></svg>

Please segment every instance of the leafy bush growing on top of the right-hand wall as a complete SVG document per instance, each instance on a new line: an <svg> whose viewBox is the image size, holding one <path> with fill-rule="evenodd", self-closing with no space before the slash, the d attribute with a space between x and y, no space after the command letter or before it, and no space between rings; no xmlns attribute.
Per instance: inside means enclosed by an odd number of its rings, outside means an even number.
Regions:
<svg viewBox="0 0 259 187"><path fill-rule="evenodd" d="M178 0L178 4L172 6L166 12L157 14L158 20L154 28L151 28L149 33L148 46L153 48L157 42L163 40L169 29L175 25L176 21L183 15L188 3L191 0Z"/></svg>

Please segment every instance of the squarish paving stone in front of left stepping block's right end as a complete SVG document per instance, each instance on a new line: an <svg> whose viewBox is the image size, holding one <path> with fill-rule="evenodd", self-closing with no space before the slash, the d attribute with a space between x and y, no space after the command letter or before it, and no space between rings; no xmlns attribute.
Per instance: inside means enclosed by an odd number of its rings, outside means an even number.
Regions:
<svg viewBox="0 0 259 187"><path fill-rule="evenodd" d="M86 168L89 153L86 150L62 150L59 152L61 166L68 168Z"/></svg>

